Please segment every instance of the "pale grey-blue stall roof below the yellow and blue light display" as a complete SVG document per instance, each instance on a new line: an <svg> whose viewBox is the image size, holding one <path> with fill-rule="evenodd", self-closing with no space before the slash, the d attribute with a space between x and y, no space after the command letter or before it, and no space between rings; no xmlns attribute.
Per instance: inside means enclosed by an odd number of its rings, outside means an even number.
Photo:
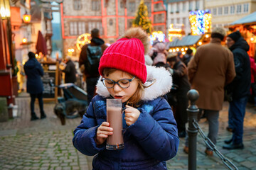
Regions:
<svg viewBox="0 0 256 170"><path fill-rule="evenodd" d="M202 38L202 35L186 35L181 39L175 39L171 42L169 42L166 47L184 47L184 46L191 46L196 44L200 39Z"/></svg>

